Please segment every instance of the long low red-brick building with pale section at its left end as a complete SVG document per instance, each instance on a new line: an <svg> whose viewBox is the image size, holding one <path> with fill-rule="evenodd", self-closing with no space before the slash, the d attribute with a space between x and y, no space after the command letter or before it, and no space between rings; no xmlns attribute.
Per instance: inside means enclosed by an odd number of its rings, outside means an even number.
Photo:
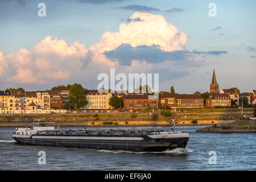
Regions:
<svg viewBox="0 0 256 182"><path fill-rule="evenodd" d="M204 98L199 94L170 94L163 93L160 106L169 107L204 107Z"/></svg>

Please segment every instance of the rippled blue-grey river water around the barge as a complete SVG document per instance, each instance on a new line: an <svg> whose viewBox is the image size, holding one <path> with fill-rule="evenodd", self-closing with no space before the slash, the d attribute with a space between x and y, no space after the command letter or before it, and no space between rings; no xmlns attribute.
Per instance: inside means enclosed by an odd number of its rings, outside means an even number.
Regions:
<svg viewBox="0 0 256 182"><path fill-rule="evenodd" d="M256 170L255 133L195 132L201 127L205 126L177 126L175 130L189 133L187 148L158 153L27 146L13 140L14 127L0 128L0 170ZM39 151L46 152L45 165L38 164ZM210 151L216 152L216 158L213 158L215 155L209 155ZM209 164L210 157L213 164Z"/></svg>

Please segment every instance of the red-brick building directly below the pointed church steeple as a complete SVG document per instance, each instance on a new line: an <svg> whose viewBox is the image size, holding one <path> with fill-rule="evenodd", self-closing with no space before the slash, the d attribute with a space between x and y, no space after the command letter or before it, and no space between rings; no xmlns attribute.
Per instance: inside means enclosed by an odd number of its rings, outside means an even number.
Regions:
<svg viewBox="0 0 256 182"><path fill-rule="evenodd" d="M205 100L205 107L215 106L231 106L231 98L225 93L212 94L212 96Z"/></svg>

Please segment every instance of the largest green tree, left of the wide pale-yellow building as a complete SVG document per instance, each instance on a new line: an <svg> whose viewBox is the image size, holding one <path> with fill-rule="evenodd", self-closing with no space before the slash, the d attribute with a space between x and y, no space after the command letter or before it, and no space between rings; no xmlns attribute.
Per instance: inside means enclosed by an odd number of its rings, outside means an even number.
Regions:
<svg viewBox="0 0 256 182"><path fill-rule="evenodd" d="M69 89L68 100L72 104L72 107L77 110L84 108L88 104L84 94L84 88L82 88L81 84L75 83L71 85Z"/></svg>

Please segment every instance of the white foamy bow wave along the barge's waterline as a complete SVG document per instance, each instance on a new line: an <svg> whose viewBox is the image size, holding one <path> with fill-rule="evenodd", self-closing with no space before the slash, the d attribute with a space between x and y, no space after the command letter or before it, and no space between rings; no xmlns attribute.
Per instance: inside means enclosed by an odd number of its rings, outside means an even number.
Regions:
<svg viewBox="0 0 256 182"><path fill-rule="evenodd" d="M97 150L98 152L111 152L111 153L135 153L135 154L146 154L146 153L151 153L151 154L188 154L193 152L191 149L189 148L175 148L172 150L166 150L166 151L162 151L162 152L132 152L132 151L123 151L123 150L118 150L118 151L114 151L114 150Z"/></svg>

